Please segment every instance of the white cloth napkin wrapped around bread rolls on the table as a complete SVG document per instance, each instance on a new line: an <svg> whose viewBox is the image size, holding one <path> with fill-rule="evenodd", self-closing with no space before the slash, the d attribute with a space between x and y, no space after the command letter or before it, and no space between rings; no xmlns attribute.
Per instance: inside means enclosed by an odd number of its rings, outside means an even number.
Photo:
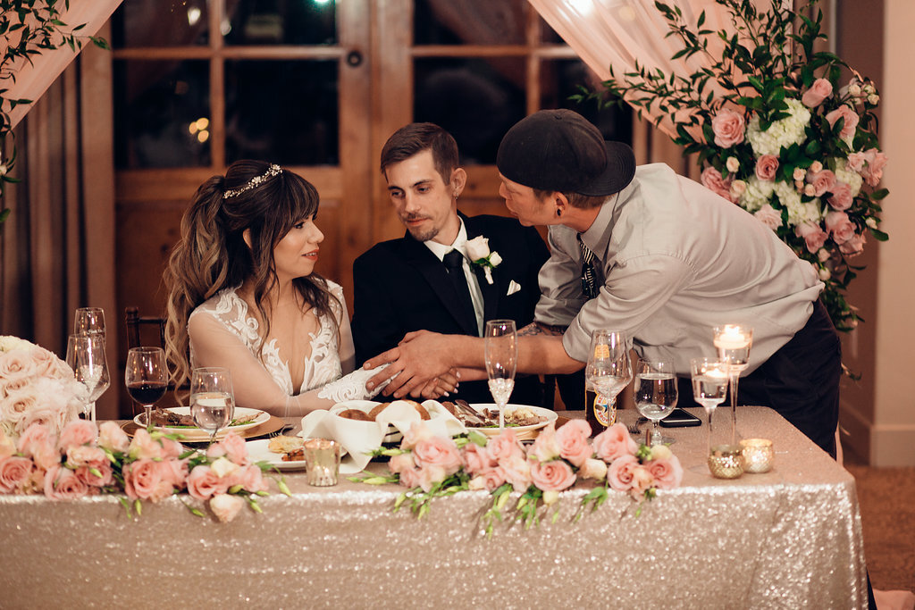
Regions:
<svg viewBox="0 0 915 610"><path fill-rule="evenodd" d="M379 413L375 422L350 420L337 415L344 409L369 412L376 404L379 403L346 401L339 402L329 411L310 412L302 418L302 431L298 435L303 438L329 438L337 441L346 451L346 455L340 460L340 474L353 475L361 472L371 460L368 452L382 445L384 437L393 432L392 427L405 433L414 422L422 422L419 413L407 401L393 401ZM423 423L436 436L454 436L467 432L464 424L449 413L440 402L425 401L422 404L429 412L429 419Z"/></svg>

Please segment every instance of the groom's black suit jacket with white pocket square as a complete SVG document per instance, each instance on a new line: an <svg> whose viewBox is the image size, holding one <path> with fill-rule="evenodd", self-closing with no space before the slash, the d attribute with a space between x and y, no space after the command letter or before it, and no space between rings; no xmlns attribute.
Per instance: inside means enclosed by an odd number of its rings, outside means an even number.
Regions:
<svg viewBox="0 0 915 610"><path fill-rule="evenodd" d="M516 219L463 214L461 218L468 240L482 235L490 240L490 251L502 257L492 270L492 284L486 282L481 269L474 267L483 294L484 320L509 318L518 328L533 322L534 306L540 298L537 273L549 257L540 234L522 227ZM371 247L353 263L352 275L352 334L359 363L396 347L414 330L479 337L476 324L470 326L461 316L458 294L448 279L445 263L409 232L399 240ZM520 289L508 294L512 281ZM450 400L455 398L492 402L486 381L462 382ZM511 402L540 405L542 400L543 391L535 376L515 380Z"/></svg>

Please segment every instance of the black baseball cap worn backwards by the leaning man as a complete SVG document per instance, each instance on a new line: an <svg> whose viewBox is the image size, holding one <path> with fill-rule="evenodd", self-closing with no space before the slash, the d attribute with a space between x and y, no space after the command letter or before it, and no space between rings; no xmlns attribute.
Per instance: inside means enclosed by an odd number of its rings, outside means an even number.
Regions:
<svg viewBox="0 0 915 610"><path fill-rule="evenodd" d="M632 181L635 155L627 144L605 141L577 112L542 110L505 134L496 166L502 176L525 187L602 197Z"/></svg>

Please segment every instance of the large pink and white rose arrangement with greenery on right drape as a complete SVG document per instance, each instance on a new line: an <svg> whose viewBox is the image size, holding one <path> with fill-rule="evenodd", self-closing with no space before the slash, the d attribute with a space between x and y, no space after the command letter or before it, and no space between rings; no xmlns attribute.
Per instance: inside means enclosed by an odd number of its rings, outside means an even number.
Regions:
<svg viewBox="0 0 915 610"><path fill-rule="evenodd" d="M888 194L876 188L887 163L877 144L877 88L833 53L814 50L825 38L822 12L805 16L816 0L797 12L776 2L768 10L746 0L716 2L736 33L703 28L705 12L691 27L679 8L655 2L667 36L682 44L673 59L703 57L704 68L668 75L637 62L621 79L611 68L604 87L640 114L660 112L659 124L668 117L673 142L697 154L705 187L811 262L835 327L850 330L860 318L845 290L861 267L848 259L863 250L868 232L888 239L877 229L877 202ZM720 56L708 50L710 40L723 43Z"/></svg>

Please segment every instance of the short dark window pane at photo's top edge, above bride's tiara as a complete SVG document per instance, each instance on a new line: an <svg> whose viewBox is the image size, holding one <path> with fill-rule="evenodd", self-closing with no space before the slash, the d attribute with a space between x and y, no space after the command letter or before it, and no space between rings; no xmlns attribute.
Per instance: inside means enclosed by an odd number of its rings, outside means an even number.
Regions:
<svg viewBox="0 0 915 610"><path fill-rule="evenodd" d="M229 45L337 44L334 0L244 0L226 11Z"/></svg>

